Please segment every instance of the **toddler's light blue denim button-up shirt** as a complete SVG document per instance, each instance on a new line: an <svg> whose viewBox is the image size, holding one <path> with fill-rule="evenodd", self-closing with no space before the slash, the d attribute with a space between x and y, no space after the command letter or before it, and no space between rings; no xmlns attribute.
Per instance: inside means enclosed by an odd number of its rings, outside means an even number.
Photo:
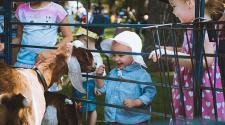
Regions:
<svg viewBox="0 0 225 125"><path fill-rule="evenodd" d="M114 68L111 70L109 77L152 82L149 73L138 63L133 63L123 70ZM105 80L104 86L99 90L105 94L105 102L114 105L123 105L125 99L140 99L145 106L150 106L149 104L156 95L156 89L153 86L111 80ZM136 124L150 119L149 114L107 106L105 106L104 115L107 122L122 124Z"/></svg>

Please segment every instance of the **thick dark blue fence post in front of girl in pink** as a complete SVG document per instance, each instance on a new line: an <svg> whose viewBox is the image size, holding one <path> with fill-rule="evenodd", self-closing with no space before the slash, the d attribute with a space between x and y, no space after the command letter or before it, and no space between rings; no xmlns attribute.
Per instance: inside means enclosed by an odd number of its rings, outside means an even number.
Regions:
<svg viewBox="0 0 225 125"><path fill-rule="evenodd" d="M201 118L202 116L202 75L203 75L203 45L204 45L204 33L203 26L200 24L204 18L204 6L205 0L195 0L195 23L193 31L193 54L194 54L194 75L197 76L193 80L193 93L194 93L194 118Z"/></svg>

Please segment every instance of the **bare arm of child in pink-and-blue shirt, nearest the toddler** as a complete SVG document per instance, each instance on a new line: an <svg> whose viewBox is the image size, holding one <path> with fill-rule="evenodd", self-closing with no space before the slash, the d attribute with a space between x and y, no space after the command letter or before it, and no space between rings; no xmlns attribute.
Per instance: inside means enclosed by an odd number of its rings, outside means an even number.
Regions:
<svg viewBox="0 0 225 125"><path fill-rule="evenodd" d="M68 23L68 18L65 17L61 23ZM73 35L70 30L70 26L60 26L60 31L62 32L63 39L61 42L71 42L73 41Z"/></svg>

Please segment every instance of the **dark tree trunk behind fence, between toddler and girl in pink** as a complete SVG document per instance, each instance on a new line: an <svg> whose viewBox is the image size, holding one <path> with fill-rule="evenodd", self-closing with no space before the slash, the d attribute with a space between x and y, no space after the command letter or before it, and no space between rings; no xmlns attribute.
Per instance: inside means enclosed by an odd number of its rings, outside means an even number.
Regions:
<svg viewBox="0 0 225 125"><path fill-rule="evenodd" d="M125 0L124 6L135 9L135 16L137 19L142 18L145 14L147 14L148 20L144 21L144 23L166 24L178 22L178 19L172 14L172 8L168 4L160 2L159 0ZM172 32L170 31L171 30L159 30L161 44L170 46L173 45L174 41L172 41ZM143 36L143 51L151 52L154 49L154 42L157 43L157 41L155 41L157 38L156 29L142 29L141 32L138 33ZM180 46L183 39L183 32L181 30L176 30L175 34L176 42L178 46ZM146 60L146 62L149 63L150 61Z"/></svg>

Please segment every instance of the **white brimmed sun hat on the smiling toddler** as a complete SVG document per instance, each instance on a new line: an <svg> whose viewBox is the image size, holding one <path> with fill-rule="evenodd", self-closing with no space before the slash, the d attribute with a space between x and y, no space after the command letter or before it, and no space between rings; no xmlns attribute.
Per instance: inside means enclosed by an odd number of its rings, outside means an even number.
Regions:
<svg viewBox="0 0 225 125"><path fill-rule="evenodd" d="M130 47L133 53L140 53L142 50L141 38L135 32L123 31L118 35L116 35L114 38L103 40L100 44L102 50L111 51L113 41L116 41L122 45ZM106 55L111 56L111 54L109 53L106 53ZM135 62L141 64L144 67L147 67L141 55L132 55L132 56Z"/></svg>

